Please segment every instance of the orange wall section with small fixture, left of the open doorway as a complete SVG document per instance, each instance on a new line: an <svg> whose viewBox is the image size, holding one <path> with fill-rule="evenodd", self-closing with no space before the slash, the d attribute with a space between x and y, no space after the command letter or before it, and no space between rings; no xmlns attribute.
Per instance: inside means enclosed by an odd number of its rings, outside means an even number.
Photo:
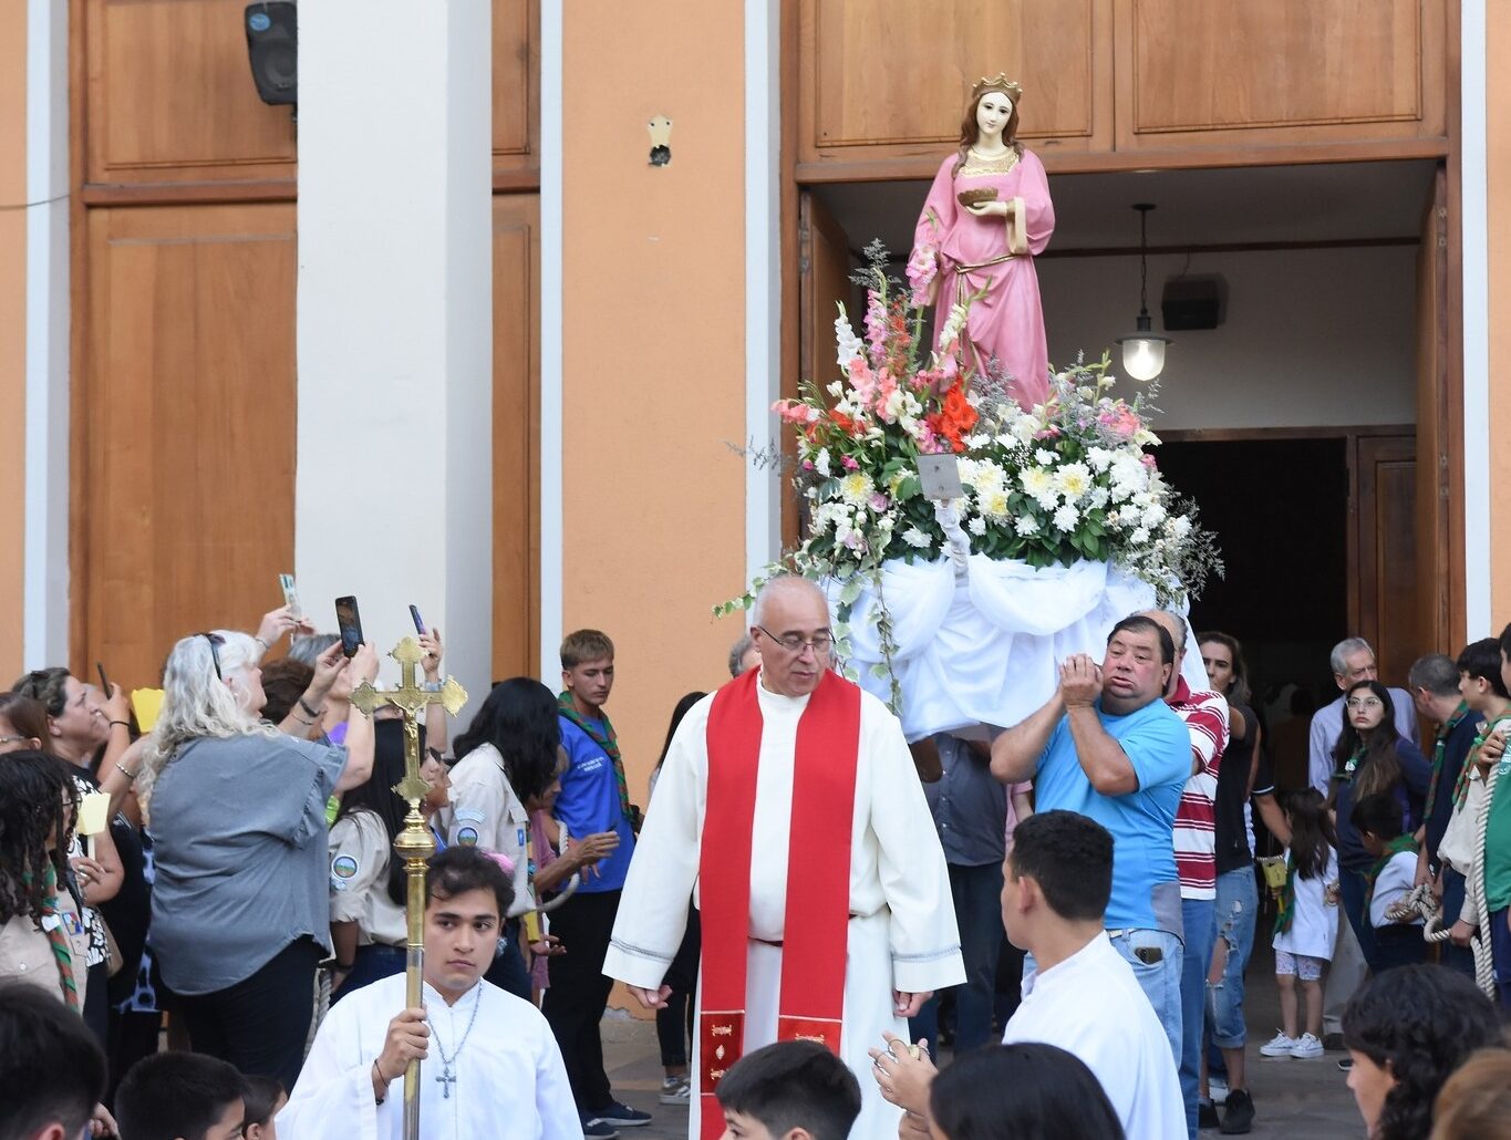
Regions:
<svg viewBox="0 0 1511 1140"><path fill-rule="evenodd" d="M745 563L742 5L653 11L567 5L562 41L564 627L615 642L639 803L672 705L728 679Z"/></svg>

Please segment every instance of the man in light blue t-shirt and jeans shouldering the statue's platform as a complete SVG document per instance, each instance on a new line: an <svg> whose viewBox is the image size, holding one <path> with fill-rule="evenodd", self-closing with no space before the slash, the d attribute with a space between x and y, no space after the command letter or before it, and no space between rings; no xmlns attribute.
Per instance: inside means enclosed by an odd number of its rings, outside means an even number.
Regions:
<svg viewBox="0 0 1511 1140"><path fill-rule="evenodd" d="M1114 840L1108 935L1180 1058L1182 923L1174 824L1191 734L1162 699L1176 645L1151 618L1112 627L1097 666L1076 654L1049 704L991 746L991 775L1034 781L1035 809L1080 812Z"/></svg>

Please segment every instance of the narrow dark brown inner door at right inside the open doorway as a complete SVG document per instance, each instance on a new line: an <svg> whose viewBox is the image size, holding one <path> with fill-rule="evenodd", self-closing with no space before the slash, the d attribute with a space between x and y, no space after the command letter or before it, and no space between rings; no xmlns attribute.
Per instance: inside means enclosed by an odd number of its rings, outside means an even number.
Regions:
<svg viewBox="0 0 1511 1140"><path fill-rule="evenodd" d="M1358 636L1380 675L1401 684L1422 654L1417 599L1416 436L1364 435L1355 442Z"/></svg>

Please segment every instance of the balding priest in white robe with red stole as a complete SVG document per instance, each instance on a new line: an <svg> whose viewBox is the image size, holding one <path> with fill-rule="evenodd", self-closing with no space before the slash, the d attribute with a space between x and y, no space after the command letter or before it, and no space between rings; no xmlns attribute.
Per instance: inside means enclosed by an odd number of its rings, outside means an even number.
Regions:
<svg viewBox="0 0 1511 1140"><path fill-rule="evenodd" d="M864 1077L854 1135L898 1129L866 1048L932 991L966 980L944 853L898 719L831 670L810 581L759 593L760 669L694 705L656 785L604 974L647 1007L703 918L689 1137L724 1131L715 1089L774 1040L823 1040Z"/></svg>

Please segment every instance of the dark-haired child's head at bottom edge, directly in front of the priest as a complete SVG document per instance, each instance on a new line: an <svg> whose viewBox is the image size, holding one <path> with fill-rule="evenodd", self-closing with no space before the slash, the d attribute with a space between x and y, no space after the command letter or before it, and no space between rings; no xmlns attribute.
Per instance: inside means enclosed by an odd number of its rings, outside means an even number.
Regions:
<svg viewBox="0 0 1511 1140"><path fill-rule="evenodd" d="M722 1140L846 1140L860 1116L860 1083L811 1040L748 1052L719 1081Z"/></svg>

